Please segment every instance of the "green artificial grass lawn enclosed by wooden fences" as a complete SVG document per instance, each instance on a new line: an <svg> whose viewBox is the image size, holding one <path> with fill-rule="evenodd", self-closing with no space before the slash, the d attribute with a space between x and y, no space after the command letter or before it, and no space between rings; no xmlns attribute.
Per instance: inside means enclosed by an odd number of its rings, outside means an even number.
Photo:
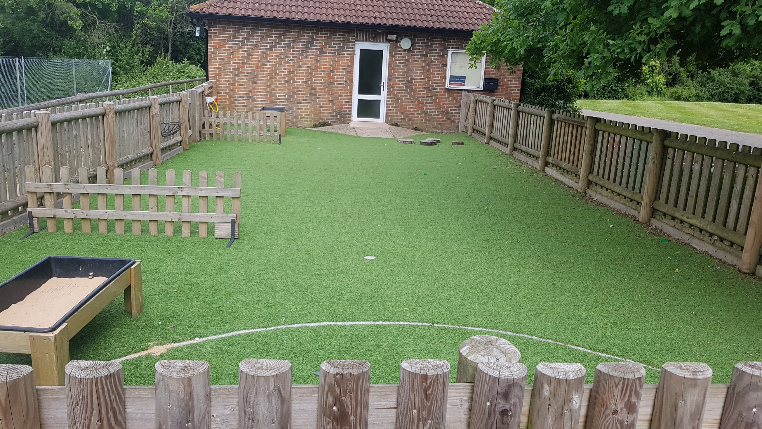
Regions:
<svg viewBox="0 0 762 429"><path fill-rule="evenodd" d="M22 227L0 237L0 278L51 254L142 260L143 314L133 320L117 299L71 340L72 359L110 360L282 324L418 321L532 334L655 367L706 361L716 382L727 382L736 362L759 360L759 280L662 242L663 235L463 134L431 137L443 143L290 128L280 146L191 144L159 168L159 182L169 168L178 176L221 170L228 185L242 172L242 238L231 248L198 238L195 224L193 237L180 237L179 222L175 237L164 237L163 222L158 237L148 235L148 222L142 236L132 236L127 221L124 236L43 231L19 241ZM123 365L126 383L150 385L156 360L208 360L213 383L235 384L240 360L283 358L294 365L294 382L315 383L322 360L351 358L370 361L373 382L397 382L403 359L440 358L450 360L454 380L458 344L474 334L432 326L287 328ZM530 370L541 361L580 362L588 382L594 366L610 360L507 339ZM27 355L0 355L0 363L28 362ZM648 370L648 382L657 377Z"/></svg>

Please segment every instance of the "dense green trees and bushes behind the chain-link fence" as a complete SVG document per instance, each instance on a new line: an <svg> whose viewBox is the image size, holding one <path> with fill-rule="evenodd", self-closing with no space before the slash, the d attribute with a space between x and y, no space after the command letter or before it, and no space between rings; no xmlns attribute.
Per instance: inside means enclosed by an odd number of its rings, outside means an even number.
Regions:
<svg viewBox="0 0 762 429"><path fill-rule="evenodd" d="M169 77L200 77L206 42L203 37L194 36L191 20L184 15L187 6L195 3L194 0L2 2L0 55L111 60L114 89Z"/></svg>

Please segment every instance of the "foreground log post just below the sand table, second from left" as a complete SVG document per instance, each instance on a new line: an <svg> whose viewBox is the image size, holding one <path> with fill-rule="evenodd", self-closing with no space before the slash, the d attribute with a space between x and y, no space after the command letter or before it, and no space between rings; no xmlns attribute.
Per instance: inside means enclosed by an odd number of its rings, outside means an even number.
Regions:
<svg viewBox="0 0 762 429"><path fill-rule="evenodd" d="M64 372L69 429L127 427L124 376L119 363L72 360Z"/></svg>

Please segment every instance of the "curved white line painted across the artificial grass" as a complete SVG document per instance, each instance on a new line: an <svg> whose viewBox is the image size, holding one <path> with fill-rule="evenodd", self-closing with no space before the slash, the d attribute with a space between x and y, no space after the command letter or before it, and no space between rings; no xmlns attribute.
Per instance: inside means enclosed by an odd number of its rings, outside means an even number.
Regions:
<svg viewBox="0 0 762 429"><path fill-rule="evenodd" d="M548 340L547 338L535 337L534 335L529 335L529 334L517 334L516 332L501 331L499 329L489 329L486 327L471 327L471 326L458 326L455 324L438 324L438 323L408 322L408 321L336 321L336 322L281 324L279 326L257 327L255 329L245 329L243 331L228 332L227 334L212 335L210 337L203 337L203 338L196 337L195 340L187 340L187 341L181 341L180 343L165 344L164 346L155 346L155 347L151 347L149 350L143 350L142 352L133 353L129 356L124 356L118 359L114 359L114 362L123 362L124 360L134 359L139 356L146 356L147 354L153 354L153 355L161 354L174 347L182 347L182 346L187 346L190 344L198 344L203 341L218 340L219 338L232 337L234 335L253 334L255 332L274 331L276 329L287 329L290 327L351 326L351 325L361 325L361 324L382 324L382 325L394 325L394 324L400 325L401 324L401 325L408 325L408 326L453 327L456 329L470 329L471 331L495 332L496 334L511 335L513 337L530 338L531 340L543 341L546 343L555 344L557 346L571 347L572 349L575 349L575 350L580 350L580 351L591 353L597 356L608 357L614 360L621 360L622 362L639 363L639 362L636 362L635 360L629 360L620 356L614 356L613 354L600 353L595 350L586 349L584 347L579 347L572 344L565 344L565 343L561 343L559 341L554 341L554 340ZM640 363L640 364L642 366L645 366L646 368L655 369L657 371L659 370L655 366L645 365L645 363Z"/></svg>

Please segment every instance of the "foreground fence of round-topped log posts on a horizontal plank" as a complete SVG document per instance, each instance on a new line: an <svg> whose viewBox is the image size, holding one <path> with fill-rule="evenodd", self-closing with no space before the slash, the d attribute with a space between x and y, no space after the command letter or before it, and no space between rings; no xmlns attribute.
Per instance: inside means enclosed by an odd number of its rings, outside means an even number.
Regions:
<svg viewBox="0 0 762 429"><path fill-rule="evenodd" d="M479 336L489 340L490 336ZM494 338L494 337L491 337ZM711 384L706 363L664 363L645 385L639 363L607 362L585 385L579 363L523 363L472 354L475 374L450 383L447 360L404 360L399 385L371 385L365 360L328 360L319 385L292 385L287 360L245 359L239 385L210 385L203 361L160 360L155 386L124 386L120 363L73 360L65 386L34 385L25 365L0 365L0 421L28 429L739 429L760 427L762 363ZM497 355L495 354L497 353ZM470 371L470 369L469 369Z"/></svg>

